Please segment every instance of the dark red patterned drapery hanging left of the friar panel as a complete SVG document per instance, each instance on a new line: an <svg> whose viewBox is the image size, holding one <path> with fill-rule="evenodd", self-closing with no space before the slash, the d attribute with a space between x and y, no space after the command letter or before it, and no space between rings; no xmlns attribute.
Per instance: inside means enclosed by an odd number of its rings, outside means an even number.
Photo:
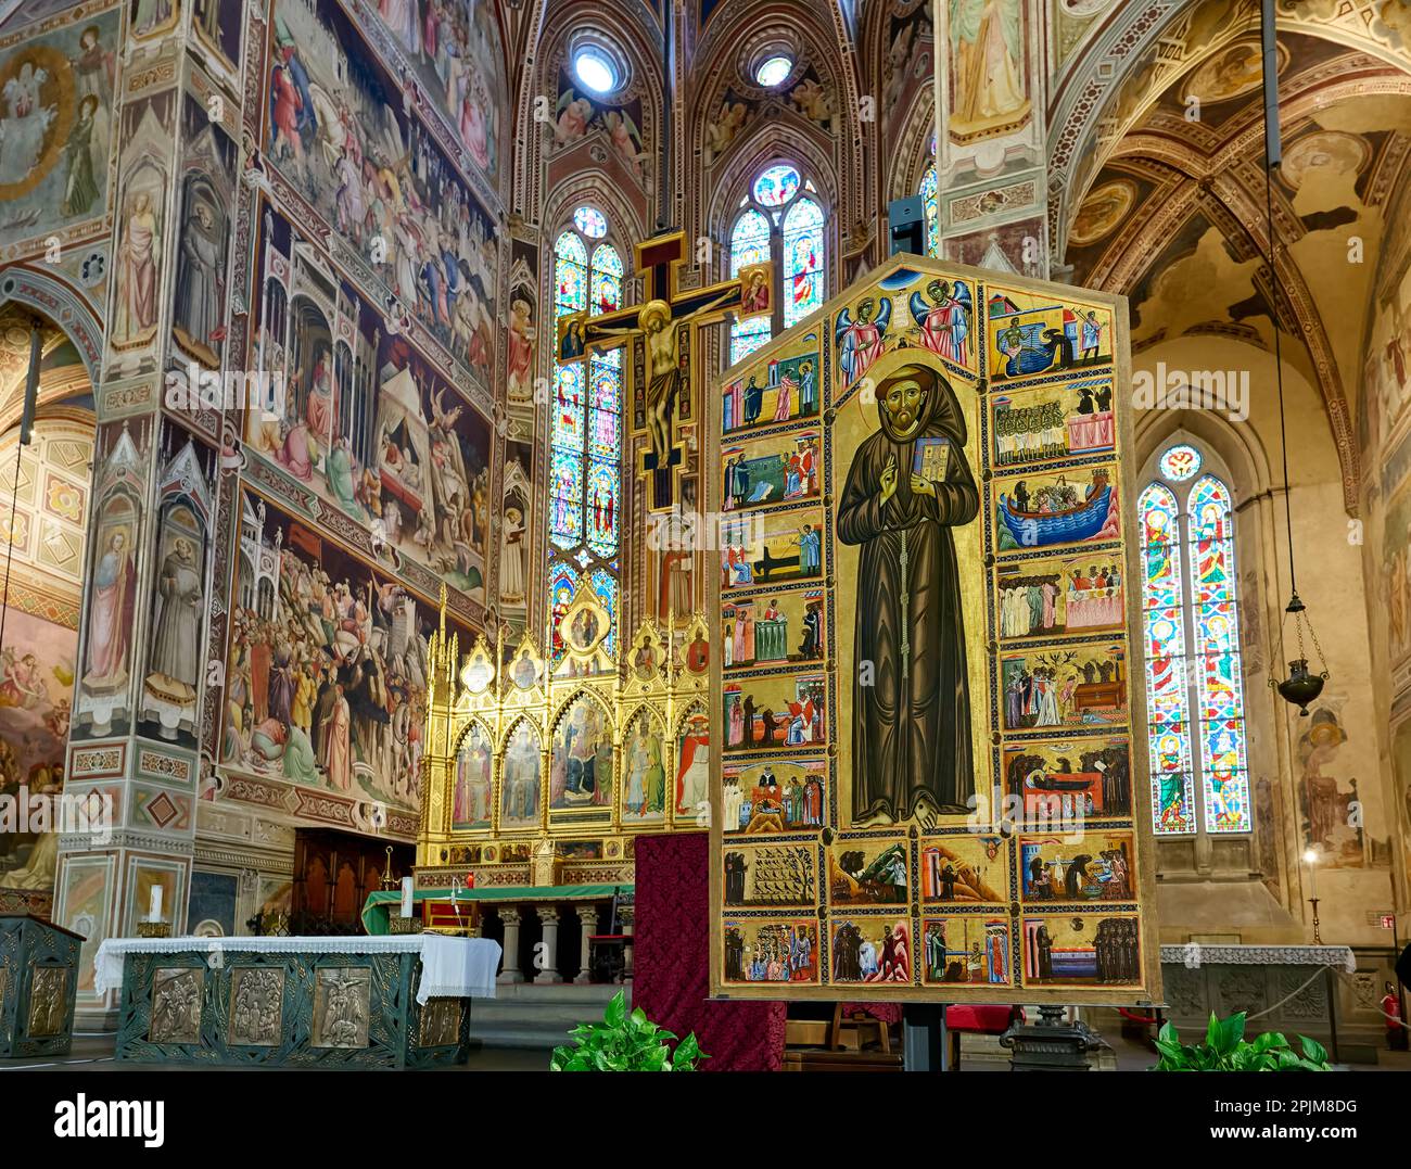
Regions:
<svg viewBox="0 0 1411 1169"><path fill-rule="evenodd" d="M706 1072L777 1072L785 1004L710 1002L706 833L639 836L632 1005L680 1036L696 1032Z"/></svg>

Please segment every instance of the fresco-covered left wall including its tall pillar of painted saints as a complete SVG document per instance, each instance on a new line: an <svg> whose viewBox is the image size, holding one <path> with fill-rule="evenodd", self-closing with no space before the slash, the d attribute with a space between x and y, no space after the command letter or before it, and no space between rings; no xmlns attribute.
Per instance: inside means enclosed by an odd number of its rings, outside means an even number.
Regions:
<svg viewBox="0 0 1411 1169"><path fill-rule="evenodd" d="M161 884L181 929L193 864L237 856L257 878L206 916L243 929L286 901L299 826L415 834L442 590L466 644L523 621L538 261L526 233L511 308L505 16L21 7L0 23L0 304L69 333L97 414L62 500L87 597L28 689L72 717L59 767L123 830L61 860L55 912L97 940ZM31 634L6 633L0 717L34 713Z"/></svg>

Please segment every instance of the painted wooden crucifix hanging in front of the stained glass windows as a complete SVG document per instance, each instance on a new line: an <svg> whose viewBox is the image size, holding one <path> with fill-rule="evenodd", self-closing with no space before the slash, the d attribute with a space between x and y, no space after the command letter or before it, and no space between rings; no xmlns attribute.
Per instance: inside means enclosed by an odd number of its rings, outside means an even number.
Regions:
<svg viewBox="0 0 1411 1169"><path fill-rule="evenodd" d="M696 400L697 329L728 318L742 320L773 311L773 280L769 264L752 264L731 280L707 288L680 288L679 270L686 263L686 233L669 232L643 240L634 248L645 281L645 299L632 308L559 318L559 363L581 361L594 349L621 344L622 337L641 336L646 347L645 425L635 433L648 435L638 473L650 477L650 510L670 511L679 504L677 479L686 466L686 450L676 439L683 400ZM680 343L687 332L687 344ZM697 411L690 409L696 418Z"/></svg>

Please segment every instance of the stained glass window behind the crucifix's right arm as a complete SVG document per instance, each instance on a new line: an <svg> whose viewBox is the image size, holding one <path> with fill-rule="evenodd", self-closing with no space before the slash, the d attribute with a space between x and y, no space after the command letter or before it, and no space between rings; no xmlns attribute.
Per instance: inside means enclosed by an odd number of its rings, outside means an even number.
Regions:
<svg viewBox="0 0 1411 1169"><path fill-rule="evenodd" d="M763 169L731 227L729 274L773 261L776 311L731 326L731 364L765 344L776 323L787 329L823 305L828 295L824 260L824 212L813 181L786 164Z"/></svg>

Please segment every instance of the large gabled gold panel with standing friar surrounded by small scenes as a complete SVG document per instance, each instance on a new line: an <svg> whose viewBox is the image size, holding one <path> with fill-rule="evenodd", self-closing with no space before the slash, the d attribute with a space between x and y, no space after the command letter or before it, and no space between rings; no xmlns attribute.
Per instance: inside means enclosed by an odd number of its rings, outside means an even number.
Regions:
<svg viewBox="0 0 1411 1169"><path fill-rule="evenodd" d="M1160 1001L1129 361L906 256L708 395L713 994Z"/></svg>

